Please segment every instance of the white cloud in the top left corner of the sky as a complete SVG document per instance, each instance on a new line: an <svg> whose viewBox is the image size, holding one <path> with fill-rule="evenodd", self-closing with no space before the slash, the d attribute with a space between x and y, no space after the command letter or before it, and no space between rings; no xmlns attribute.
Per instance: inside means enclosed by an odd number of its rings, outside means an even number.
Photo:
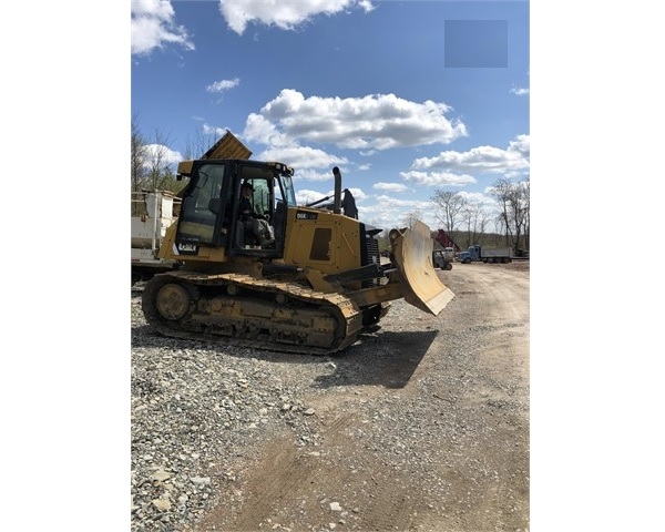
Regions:
<svg viewBox="0 0 665 532"><path fill-rule="evenodd" d="M194 50L186 29L174 21L175 11L170 0L132 0L131 10L132 55L150 54L163 43Z"/></svg>

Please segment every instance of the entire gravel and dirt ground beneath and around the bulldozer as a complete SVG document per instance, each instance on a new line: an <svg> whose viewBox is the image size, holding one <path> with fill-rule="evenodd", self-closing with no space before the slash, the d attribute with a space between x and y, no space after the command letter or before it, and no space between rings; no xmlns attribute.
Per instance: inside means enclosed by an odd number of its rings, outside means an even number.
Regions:
<svg viewBox="0 0 665 532"><path fill-rule="evenodd" d="M529 263L438 272L335 357L160 337L133 290L132 531L528 531Z"/></svg>

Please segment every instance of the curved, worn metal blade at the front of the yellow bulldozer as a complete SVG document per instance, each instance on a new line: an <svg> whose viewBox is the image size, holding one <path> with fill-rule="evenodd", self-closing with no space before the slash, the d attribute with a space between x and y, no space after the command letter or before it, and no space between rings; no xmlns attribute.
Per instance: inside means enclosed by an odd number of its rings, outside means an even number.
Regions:
<svg viewBox="0 0 665 532"><path fill-rule="evenodd" d="M392 229L389 236L405 300L437 316L454 294L441 283L432 265L429 227L417 221L412 228Z"/></svg>

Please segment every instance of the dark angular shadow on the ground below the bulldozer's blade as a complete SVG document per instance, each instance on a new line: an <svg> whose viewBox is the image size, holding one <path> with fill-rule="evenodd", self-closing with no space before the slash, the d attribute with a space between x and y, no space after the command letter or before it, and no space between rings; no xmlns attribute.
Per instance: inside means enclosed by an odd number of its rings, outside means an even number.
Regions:
<svg viewBox="0 0 665 532"><path fill-rule="evenodd" d="M334 357L331 375L315 379L317 388L340 386L383 386L403 388L430 348L438 331L385 331L360 337L344 352Z"/></svg>

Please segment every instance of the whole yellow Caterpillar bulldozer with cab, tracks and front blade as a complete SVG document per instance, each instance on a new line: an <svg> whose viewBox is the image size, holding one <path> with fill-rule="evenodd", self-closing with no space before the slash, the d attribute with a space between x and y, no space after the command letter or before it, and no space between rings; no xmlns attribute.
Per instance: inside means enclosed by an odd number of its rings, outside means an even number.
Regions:
<svg viewBox="0 0 665 532"><path fill-rule="evenodd" d="M282 163L241 158L180 163L178 178L190 182L158 256L182 266L155 275L142 299L158 332L331 355L376 326L391 300L438 315L454 297L432 266L427 225L390 231L390 263L381 265L381 229L357 219L348 190L342 201L339 170L324 207L296 204L293 174ZM253 218L243 219L243 191Z"/></svg>

